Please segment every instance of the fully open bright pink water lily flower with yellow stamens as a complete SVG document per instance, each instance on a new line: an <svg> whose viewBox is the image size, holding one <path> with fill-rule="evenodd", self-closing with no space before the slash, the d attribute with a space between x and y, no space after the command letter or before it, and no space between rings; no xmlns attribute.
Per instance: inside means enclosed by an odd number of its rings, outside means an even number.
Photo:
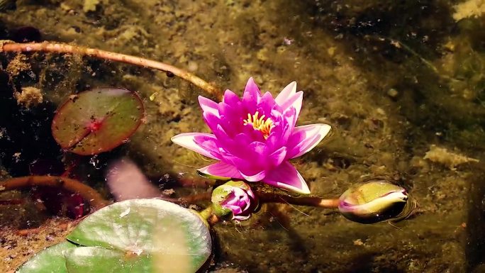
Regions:
<svg viewBox="0 0 485 273"><path fill-rule="evenodd" d="M330 131L328 124L295 126L303 91L288 84L276 98L250 78L243 98L226 90L216 103L199 96L204 121L212 133L182 133L174 143L219 160L199 169L204 174L264 182L282 189L309 194L301 174L289 163L313 149Z"/></svg>

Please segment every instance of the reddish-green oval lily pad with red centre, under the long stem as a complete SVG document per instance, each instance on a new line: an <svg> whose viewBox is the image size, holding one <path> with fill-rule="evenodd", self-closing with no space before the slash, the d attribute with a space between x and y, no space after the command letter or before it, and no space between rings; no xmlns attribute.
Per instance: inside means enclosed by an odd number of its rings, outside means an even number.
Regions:
<svg viewBox="0 0 485 273"><path fill-rule="evenodd" d="M144 115L134 92L96 88L69 96L52 121L52 135L62 148L96 155L121 145L135 133Z"/></svg>

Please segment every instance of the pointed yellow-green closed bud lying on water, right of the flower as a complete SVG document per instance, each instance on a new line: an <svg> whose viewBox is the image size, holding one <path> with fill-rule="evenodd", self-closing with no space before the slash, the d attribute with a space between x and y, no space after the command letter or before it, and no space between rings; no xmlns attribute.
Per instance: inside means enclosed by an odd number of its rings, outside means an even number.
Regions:
<svg viewBox="0 0 485 273"><path fill-rule="evenodd" d="M416 208L406 189L384 179L357 184L340 196L338 210L357 223L400 221Z"/></svg>

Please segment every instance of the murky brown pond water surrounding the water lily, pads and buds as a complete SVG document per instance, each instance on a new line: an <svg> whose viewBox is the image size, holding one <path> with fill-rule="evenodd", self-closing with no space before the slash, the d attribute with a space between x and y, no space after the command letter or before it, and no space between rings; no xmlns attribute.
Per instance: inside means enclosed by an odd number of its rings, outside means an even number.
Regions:
<svg viewBox="0 0 485 273"><path fill-rule="evenodd" d="M211 270L485 272L483 1L0 3L2 39L61 41L160 60L238 94L249 77L273 94L296 81L304 91L299 124L333 126L330 137L294 161L312 194L337 197L359 180L386 176L420 205L415 216L392 225L267 205L246 223L214 226ZM54 172L75 160L72 172L108 196L106 165L127 156L174 197L206 191L207 180L195 169L207 162L170 141L208 130L196 100L208 96L203 90L152 69L52 53L4 52L0 75L4 179L31 174L35 162ZM34 98L27 107L15 95L23 87L37 88L42 103ZM73 159L55 143L50 123L61 101L92 87L137 91L145 122L121 147ZM69 230L67 218L39 210L32 196L31 189L0 194L23 200L0 204L2 272Z"/></svg>

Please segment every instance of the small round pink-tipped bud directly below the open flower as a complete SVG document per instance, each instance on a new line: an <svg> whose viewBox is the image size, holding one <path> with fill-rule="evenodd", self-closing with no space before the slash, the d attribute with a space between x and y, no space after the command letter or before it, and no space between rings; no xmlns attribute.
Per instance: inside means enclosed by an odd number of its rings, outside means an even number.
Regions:
<svg viewBox="0 0 485 273"><path fill-rule="evenodd" d="M212 191L213 213L221 218L243 221L257 208L257 199L249 185L242 181L229 181Z"/></svg>

